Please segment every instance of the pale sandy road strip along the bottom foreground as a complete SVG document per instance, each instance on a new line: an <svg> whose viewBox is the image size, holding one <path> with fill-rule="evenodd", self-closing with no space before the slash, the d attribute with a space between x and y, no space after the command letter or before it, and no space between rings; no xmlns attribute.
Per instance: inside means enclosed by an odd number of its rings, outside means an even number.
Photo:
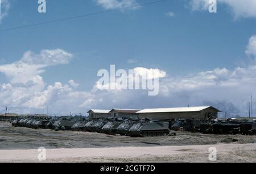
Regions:
<svg viewBox="0 0 256 174"><path fill-rule="evenodd" d="M217 149L217 162L256 162L256 144L50 149L45 162L210 162L210 147ZM38 154L0 150L0 162L39 162Z"/></svg>

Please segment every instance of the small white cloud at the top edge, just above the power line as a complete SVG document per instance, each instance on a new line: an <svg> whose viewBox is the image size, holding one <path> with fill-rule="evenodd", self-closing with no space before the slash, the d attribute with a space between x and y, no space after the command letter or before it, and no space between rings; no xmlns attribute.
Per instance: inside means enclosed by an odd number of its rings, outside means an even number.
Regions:
<svg viewBox="0 0 256 174"><path fill-rule="evenodd" d="M138 5L136 0L95 0L104 9L121 9ZM135 7L132 9L136 9Z"/></svg>

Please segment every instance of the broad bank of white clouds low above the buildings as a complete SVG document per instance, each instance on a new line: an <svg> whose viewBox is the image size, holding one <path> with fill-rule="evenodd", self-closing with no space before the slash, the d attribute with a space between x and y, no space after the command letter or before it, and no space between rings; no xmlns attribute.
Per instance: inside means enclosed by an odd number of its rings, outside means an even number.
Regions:
<svg viewBox="0 0 256 174"><path fill-rule="evenodd" d="M255 37L252 36L246 51L249 56L255 56L256 46L254 41ZM43 55L48 54L43 53ZM60 53L60 55L65 57L69 53ZM57 54L56 57L60 55ZM42 56L35 55L35 57ZM51 56L51 59L59 60L56 57ZM97 85L93 86L92 90L88 92L80 91L76 90L79 84L76 84L73 80L70 80L68 84L55 82L53 85L46 86L43 78L39 75L44 71L45 66L53 65L52 61L44 60L42 63L37 59L34 60L34 57L31 58L26 59L26 63L22 62L24 59L18 61L24 64L20 66L21 69L19 64L16 65L17 63L1 66L1 72L9 77L10 83L0 84L0 106L32 109L46 109L48 107L50 114L60 115L68 114L69 111L85 114L86 110L91 108L143 109L147 107L213 105L222 111L228 111L230 115L241 114L246 116L247 102L250 100L251 93L256 96L256 63L234 69L216 68L188 74L187 76L167 76L167 73L160 69L158 69L158 73L154 73L156 70L154 68L134 68L137 74L146 73L150 75L149 78L160 78L159 95L148 96L147 90L95 90ZM69 59L68 61L61 60L59 62L61 64L68 63ZM34 73L34 76L26 71L27 67L25 65L30 65L28 69L32 69L31 72ZM36 67L42 65L44 65L43 68ZM57 65L57 63L54 63L54 65ZM8 73L6 67L15 68L11 73ZM15 73L15 71L28 74L27 79L17 80L17 77L22 78L22 76Z"/></svg>

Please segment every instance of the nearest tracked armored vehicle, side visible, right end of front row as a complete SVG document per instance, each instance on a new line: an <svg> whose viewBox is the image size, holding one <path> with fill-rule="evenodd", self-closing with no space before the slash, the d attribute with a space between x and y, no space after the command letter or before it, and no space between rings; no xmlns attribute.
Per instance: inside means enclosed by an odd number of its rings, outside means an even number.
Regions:
<svg viewBox="0 0 256 174"><path fill-rule="evenodd" d="M131 136L164 136L169 133L169 122L135 123L129 130Z"/></svg>

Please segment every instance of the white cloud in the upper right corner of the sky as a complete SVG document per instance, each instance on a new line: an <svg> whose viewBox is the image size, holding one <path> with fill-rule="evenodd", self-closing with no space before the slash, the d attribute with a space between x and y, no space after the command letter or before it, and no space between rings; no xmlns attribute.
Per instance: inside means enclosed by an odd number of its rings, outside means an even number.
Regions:
<svg viewBox="0 0 256 174"><path fill-rule="evenodd" d="M234 18L255 18L256 1L254 0L217 0L218 5L228 6ZM208 10L209 0L190 0L192 10Z"/></svg>

